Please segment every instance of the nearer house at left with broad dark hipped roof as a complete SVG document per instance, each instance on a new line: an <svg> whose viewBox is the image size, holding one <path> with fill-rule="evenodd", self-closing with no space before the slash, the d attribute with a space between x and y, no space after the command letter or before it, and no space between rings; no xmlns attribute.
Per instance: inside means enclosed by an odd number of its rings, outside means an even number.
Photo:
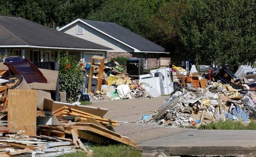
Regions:
<svg viewBox="0 0 256 157"><path fill-rule="evenodd" d="M0 54L9 52L32 62L56 60L60 55L106 54L112 49L17 16L0 15ZM86 56L87 57L87 56Z"/></svg>

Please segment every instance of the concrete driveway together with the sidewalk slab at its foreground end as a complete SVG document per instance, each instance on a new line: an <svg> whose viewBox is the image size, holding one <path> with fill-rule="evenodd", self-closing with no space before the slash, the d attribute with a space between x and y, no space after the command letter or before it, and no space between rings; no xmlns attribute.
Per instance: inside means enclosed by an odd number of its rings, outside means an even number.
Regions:
<svg viewBox="0 0 256 157"><path fill-rule="evenodd" d="M137 149L144 152L164 152L166 155L256 154L256 131L195 130L136 123L143 114L158 110L164 100L117 100L94 102L92 106L108 108L104 117L119 121L115 131L135 140Z"/></svg>

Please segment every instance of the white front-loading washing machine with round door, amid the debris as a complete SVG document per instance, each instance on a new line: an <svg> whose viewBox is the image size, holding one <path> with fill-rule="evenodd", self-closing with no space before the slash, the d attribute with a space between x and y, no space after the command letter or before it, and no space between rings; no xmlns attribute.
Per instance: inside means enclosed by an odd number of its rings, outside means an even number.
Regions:
<svg viewBox="0 0 256 157"><path fill-rule="evenodd" d="M150 70L154 77L163 77L163 93L171 94L173 92L173 74L170 68Z"/></svg>

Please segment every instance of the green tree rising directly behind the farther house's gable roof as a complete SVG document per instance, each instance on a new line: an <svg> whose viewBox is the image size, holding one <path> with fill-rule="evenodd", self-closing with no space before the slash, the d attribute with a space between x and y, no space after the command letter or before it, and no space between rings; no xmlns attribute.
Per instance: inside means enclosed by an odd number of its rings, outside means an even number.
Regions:
<svg viewBox="0 0 256 157"><path fill-rule="evenodd" d="M152 31L152 10L141 0L106 0L100 9L89 13L91 20L115 22L131 31L148 37Z"/></svg>

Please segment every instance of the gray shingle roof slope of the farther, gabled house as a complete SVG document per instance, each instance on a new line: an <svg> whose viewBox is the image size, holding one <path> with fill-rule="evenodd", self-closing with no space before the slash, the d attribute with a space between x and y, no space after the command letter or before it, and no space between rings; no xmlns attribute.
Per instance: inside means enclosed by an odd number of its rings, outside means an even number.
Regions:
<svg viewBox="0 0 256 157"><path fill-rule="evenodd" d="M101 31L111 35L118 40L140 50L140 51L156 51L156 52L165 52L165 48L147 40L146 38L141 37L140 35L112 22L102 22L95 20L86 20L80 19L84 22L100 29Z"/></svg>

